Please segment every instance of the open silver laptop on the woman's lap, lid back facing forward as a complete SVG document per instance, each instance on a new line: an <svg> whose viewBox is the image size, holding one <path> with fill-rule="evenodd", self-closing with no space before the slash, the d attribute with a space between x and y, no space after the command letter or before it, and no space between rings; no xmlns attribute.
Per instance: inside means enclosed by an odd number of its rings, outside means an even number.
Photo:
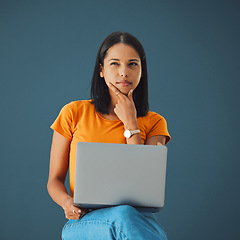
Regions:
<svg viewBox="0 0 240 240"><path fill-rule="evenodd" d="M74 204L128 204L156 212L164 206L167 147L78 142Z"/></svg>

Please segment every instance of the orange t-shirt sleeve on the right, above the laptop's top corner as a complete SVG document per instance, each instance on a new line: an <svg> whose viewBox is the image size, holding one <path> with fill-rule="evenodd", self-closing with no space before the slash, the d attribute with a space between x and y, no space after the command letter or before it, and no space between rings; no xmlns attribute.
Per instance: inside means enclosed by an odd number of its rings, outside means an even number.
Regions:
<svg viewBox="0 0 240 240"><path fill-rule="evenodd" d="M170 141L171 136L167 129L167 121L161 115L152 112L152 116L150 117L151 128L147 134L147 138L157 135L166 136L166 144Z"/></svg>

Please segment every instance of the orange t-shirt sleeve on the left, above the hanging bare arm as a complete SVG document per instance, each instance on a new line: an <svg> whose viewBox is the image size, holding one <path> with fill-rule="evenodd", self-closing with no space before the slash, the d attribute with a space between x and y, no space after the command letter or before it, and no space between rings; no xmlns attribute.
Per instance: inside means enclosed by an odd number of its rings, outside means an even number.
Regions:
<svg viewBox="0 0 240 240"><path fill-rule="evenodd" d="M72 131L73 114L70 106L71 103L65 105L61 109L58 117L56 118L54 123L50 126L50 128L60 133L62 136L71 141L73 136Z"/></svg>

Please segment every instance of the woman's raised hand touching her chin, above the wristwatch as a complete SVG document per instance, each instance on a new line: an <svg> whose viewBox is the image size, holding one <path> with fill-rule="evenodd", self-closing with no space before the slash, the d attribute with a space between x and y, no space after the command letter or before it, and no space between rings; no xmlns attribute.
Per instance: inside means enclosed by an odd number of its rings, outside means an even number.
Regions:
<svg viewBox="0 0 240 240"><path fill-rule="evenodd" d="M132 97L133 90L131 89L126 96L112 83L109 83L108 86L117 96L118 102L115 105L114 112L123 122L125 128L137 125L137 111Z"/></svg>

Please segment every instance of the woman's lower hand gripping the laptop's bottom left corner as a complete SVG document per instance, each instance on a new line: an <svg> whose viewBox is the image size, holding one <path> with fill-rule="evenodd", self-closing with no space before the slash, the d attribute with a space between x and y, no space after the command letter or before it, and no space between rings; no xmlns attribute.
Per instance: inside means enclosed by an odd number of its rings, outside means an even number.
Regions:
<svg viewBox="0 0 240 240"><path fill-rule="evenodd" d="M79 209L73 205L73 198L69 197L64 206L65 217L67 219L79 219L82 214L86 214L89 211L87 209Z"/></svg>

